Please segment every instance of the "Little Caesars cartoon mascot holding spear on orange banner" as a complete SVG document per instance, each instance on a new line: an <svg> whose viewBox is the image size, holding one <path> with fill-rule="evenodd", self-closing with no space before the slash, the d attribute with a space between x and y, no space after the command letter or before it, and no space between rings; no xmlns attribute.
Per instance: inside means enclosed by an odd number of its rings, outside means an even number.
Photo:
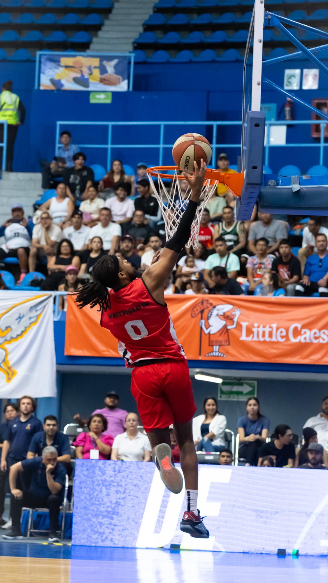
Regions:
<svg viewBox="0 0 328 583"><path fill-rule="evenodd" d="M205 320L200 320L199 325L204 334L210 334L208 344L213 347L213 351L205 354L205 356L226 356L223 352L219 352L219 347L230 345L229 330L236 328L241 314L241 310L235 308L231 314L225 316L224 314L231 311L232 308L232 304L215 305L207 315L208 328L205 328ZM234 316L233 319L232 316ZM228 321L232 323L228 324Z"/></svg>

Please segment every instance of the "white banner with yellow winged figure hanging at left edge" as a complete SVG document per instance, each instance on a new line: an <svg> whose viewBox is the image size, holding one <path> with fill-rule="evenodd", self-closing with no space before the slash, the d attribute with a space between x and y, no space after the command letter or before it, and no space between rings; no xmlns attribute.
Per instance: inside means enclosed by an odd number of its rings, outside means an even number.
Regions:
<svg viewBox="0 0 328 583"><path fill-rule="evenodd" d="M0 291L0 399L56 395L53 297Z"/></svg>

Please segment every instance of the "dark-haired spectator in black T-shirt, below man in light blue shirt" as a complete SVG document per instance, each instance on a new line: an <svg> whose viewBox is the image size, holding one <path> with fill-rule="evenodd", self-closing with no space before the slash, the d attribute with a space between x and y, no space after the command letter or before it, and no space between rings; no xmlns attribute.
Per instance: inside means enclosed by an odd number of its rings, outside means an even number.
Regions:
<svg viewBox="0 0 328 583"><path fill-rule="evenodd" d="M88 188L95 180L92 168L85 166L85 161L86 155L83 152L76 152L73 156L74 166L64 170L63 181L67 186L67 194L74 204L88 198Z"/></svg>

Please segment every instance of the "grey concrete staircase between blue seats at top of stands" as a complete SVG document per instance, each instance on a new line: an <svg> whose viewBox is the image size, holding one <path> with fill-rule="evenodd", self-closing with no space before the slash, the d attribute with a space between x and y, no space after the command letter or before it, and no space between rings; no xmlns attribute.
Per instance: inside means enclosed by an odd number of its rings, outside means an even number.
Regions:
<svg viewBox="0 0 328 583"><path fill-rule="evenodd" d="M142 32L142 24L151 15L154 3L153 0L117 0L89 51L131 52L132 43Z"/></svg>

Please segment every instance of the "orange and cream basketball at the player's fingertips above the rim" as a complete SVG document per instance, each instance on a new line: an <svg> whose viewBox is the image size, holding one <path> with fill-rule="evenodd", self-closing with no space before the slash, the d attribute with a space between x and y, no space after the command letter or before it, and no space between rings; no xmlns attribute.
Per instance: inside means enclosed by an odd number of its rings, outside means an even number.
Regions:
<svg viewBox="0 0 328 583"><path fill-rule="evenodd" d="M177 139L172 148L173 160L176 166L185 172L194 171L194 160L200 166L203 158L205 164L210 163L212 149L210 142L201 134L183 134Z"/></svg>

